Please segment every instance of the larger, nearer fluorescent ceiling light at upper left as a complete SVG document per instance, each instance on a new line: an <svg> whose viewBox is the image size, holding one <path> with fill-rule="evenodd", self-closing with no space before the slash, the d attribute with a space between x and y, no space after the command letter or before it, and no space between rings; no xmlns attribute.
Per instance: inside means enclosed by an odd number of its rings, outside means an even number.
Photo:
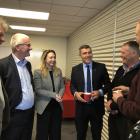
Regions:
<svg viewBox="0 0 140 140"><path fill-rule="evenodd" d="M39 19L39 20L48 20L49 18L49 13L9 9L9 8L0 8L0 15L8 17Z"/></svg>

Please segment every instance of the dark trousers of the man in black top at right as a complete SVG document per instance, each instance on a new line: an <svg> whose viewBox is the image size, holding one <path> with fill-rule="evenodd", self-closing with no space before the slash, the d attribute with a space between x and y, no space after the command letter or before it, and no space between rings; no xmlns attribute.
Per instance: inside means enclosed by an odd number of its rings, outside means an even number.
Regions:
<svg viewBox="0 0 140 140"><path fill-rule="evenodd" d="M127 140L129 133L128 120L121 114L108 117L109 140Z"/></svg>

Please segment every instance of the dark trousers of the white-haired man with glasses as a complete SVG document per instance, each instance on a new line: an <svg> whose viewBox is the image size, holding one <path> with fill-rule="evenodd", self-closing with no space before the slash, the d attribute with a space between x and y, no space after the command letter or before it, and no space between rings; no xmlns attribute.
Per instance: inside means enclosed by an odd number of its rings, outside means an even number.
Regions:
<svg viewBox="0 0 140 140"><path fill-rule="evenodd" d="M2 131L1 140L31 140L34 108L14 110L8 127Z"/></svg>

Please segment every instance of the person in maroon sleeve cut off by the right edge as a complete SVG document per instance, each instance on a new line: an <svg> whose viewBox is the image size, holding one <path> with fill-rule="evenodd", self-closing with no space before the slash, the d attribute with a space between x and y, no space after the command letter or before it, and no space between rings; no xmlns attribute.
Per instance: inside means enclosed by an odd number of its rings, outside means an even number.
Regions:
<svg viewBox="0 0 140 140"><path fill-rule="evenodd" d="M136 40L140 44L140 21L136 25ZM127 99L119 91L117 94L113 94L113 100L117 103L120 112L133 122L132 125L138 121L133 127L134 130L131 130L132 134L129 134L129 139L140 139L140 71L133 78Z"/></svg>

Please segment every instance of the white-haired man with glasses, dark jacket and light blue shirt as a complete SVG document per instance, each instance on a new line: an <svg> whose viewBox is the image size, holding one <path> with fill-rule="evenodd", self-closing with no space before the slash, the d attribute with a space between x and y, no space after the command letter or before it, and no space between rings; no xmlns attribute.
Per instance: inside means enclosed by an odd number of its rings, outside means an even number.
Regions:
<svg viewBox="0 0 140 140"><path fill-rule="evenodd" d="M0 75L8 94L10 122L1 140L31 140L34 118L34 92L29 36L16 33L11 37L12 54L0 60Z"/></svg>

